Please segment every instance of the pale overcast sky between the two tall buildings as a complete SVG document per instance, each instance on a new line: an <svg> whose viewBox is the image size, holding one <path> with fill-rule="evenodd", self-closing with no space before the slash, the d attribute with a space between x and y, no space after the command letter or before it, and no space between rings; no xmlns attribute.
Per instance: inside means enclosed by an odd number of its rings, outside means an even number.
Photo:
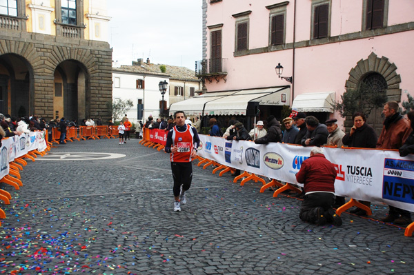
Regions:
<svg viewBox="0 0 414 275"><path fill-rule="evenodd" d="M195 70L201 60L201 0L108 0L108 42L118 65L151 63Z"/></svg>

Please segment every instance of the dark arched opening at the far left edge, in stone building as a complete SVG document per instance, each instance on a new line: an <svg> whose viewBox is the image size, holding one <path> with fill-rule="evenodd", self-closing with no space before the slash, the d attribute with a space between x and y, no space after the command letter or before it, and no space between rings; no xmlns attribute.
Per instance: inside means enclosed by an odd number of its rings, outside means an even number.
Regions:
<svg viewBox="0 0 414 275"><path fill-rule="evenodd" d="M0 56L0 113L21 117L32 114L32 67L17 54Z"/></svg>

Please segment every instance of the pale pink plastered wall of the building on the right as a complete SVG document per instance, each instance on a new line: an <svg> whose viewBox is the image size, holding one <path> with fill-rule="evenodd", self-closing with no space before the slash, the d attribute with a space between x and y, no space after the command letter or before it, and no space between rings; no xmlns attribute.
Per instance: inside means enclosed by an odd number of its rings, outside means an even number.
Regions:
<svg viewBox="0 0 414 275"><path fill-rule="evenodd" d="M290 85L284 79L277 78L275 66L284 66L285 77L293 75L293 50L278 50L260 54L248 54L234 57L235 22L232 14L251 10L248 15L248 49L268 47L269 10L266 6L284 1L275 0L224 0L208 4L206 26L223 24L222 57L227 61L226 82L213 81L206 83L208 92L218 90L236 90L260 88L275 85ZM295 41L312 43L311 38L311 0L297 1ZM317 2L319 3L319 2ZM286 6L285 43L293 42L293 18L295 0ZM330 37L344 34L358 34L362 31L364 1L335 0L331 1ZM388 0L386 26L414 21L414 1ZM210 31L207 32L207 58L210 57ZM311 42L309 42L311 41ZM401 76L400 89L402 100L408 93L414 94L413 61L414 30L395 32L393 34L366 37L362 39L325 43L295 49L294 96L308 92L335 92L336 100L345 91L345 83L349 72L361 59L367 59L371 52L377 57L387 57L390 63L397 66L397 74ZM299 46L298 46L299 47ZM293 100L293 98L291 99ZM335 114L339 118L339 114Z"/></svg>

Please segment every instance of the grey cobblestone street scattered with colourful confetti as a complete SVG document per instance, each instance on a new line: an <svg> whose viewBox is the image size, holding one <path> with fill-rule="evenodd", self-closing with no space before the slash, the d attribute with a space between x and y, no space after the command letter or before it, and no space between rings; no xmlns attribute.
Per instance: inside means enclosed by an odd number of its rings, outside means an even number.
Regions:
<svg viewBox="0 0 414 275"><path fill-rule="evenodd" d="M404 229L348 213L341 227L303 223L298 199L197 161L173 212L169 156L138 142L56 145L23 168L20 190L1 183L0 274L413 274Z"/></svg>

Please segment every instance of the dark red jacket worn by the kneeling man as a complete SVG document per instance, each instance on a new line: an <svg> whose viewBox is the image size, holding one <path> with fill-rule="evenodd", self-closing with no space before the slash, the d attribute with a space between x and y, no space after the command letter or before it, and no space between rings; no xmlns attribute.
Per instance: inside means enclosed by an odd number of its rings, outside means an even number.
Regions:
<svg viewBox="0 0 414 275"><path fill-rule="evenodd" d="M314 154L306 159L296 174L298 183L304 183L304 192L335 192L337 172L331 161L323 154Z"/></svg>

